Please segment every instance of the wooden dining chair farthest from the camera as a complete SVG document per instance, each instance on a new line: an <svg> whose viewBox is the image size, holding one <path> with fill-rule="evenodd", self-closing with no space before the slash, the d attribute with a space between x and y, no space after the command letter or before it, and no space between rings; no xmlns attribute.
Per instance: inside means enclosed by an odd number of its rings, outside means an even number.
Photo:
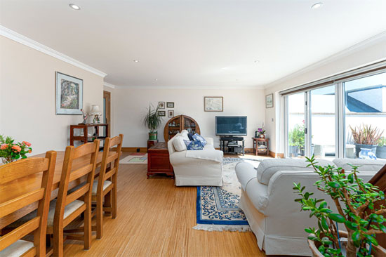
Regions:
<svg viewBox="0 0 386 257"><path fill-rule="evenodd" d="M97 239L102 238L103 211L111 212L112 218L117 217L117 175L123 140L122 134L114 138L106 138L99 177L93 184L92 199L96 202L96 208L93 211L93 215L96 215L96 226L93 226L93 230L97 232ZM114 150L112 150L113 147ZM103 206L103 200L105 200L105 206Z"/></svg>

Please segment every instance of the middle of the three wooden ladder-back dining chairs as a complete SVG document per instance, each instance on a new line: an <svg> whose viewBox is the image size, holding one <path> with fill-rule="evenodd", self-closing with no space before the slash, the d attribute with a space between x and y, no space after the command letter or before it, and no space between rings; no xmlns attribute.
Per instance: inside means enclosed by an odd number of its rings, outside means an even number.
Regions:
<svg viewBox="0 0 386 257"><path fill-rule="evenodd" d="M84 249L91 246L91 190L94 181L100 140L79 147L67 146L60 178L58 198L53 200L48 213L47 234L53 235L53 249L48 254L63 256L63 230L81 213L84 213L84 235L70 234L66 239L84 241ZM84 157L82 165L72 171L76 159ZM79 166L79 165L78 165ZM86 176L86 183L68 193L69 183Z"/></svg>

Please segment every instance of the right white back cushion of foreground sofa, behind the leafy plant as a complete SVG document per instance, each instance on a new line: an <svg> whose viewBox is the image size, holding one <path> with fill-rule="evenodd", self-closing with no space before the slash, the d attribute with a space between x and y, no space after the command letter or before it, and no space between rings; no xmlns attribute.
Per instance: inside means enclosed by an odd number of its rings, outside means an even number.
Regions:
<svg viewBox="0 0 386 257"><path fill-rule="evenodd" d="M349 164L360 166L358 171L379 171L386 164L386 160L338 158L334 159L333 163L346 171L352 171Z"/></svg>

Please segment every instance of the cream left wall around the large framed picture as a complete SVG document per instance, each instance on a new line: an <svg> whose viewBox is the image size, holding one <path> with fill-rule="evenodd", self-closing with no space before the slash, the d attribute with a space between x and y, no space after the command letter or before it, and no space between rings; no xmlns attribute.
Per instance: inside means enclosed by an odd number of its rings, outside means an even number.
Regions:
<svg viewBox="0 0 386 257"><path fill-rule="evenodd" d="M32 143L32 154L65 150L81 115L55 115L55 72L84 80L84 109L102 107L103 78L0 36L0 133Z"/></svg>

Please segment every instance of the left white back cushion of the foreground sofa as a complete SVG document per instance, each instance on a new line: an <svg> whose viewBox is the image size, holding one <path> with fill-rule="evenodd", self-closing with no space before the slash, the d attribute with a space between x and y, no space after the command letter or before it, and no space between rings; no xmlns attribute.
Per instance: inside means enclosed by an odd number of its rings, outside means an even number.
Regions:
<svg viewBox="0 0 386 257"><path fill-rule="evenodd" d="M318 159L318 165L334 165L333 162ZM257 176L260 183L269 184L269 180L277 171L313 171L312 167L307 167L309 163L305 159L265 159L258 166Z"/></svg>

